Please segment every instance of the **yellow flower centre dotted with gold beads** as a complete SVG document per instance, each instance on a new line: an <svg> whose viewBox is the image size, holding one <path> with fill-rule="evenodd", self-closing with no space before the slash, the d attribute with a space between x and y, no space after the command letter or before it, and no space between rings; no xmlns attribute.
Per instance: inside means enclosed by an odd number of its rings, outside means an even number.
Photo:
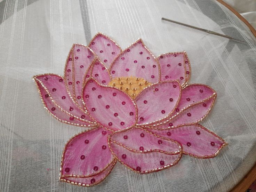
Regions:
<svg viewBox="0 0 256 192"><path fill-rule="evenodd" d="M152 83L137 77L116 77L109 82L109 86L116 87L125 91L131 98L134 98L142 89Z"/></svg>

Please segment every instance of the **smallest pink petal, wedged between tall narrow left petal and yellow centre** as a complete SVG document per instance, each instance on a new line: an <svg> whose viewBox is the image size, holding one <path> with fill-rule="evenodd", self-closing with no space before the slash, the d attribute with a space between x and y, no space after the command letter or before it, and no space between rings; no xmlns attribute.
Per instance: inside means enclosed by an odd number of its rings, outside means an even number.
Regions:
<svg viewBox="0 0 256 192"><path fill-rule="evenodd" d="M111 81L109 70L98 59L92 65L91 77L95 78L102 85L108 85Z"/></svg>

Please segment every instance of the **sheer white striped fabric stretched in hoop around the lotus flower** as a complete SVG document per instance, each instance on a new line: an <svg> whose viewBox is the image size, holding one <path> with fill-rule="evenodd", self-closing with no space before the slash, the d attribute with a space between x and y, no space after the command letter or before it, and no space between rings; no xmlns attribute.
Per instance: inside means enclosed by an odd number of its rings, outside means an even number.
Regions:
<svg viewBox="0 0 256 192"><path fill-rule="evenodd" d="M256 160L255 37L231 11L205 0L11 0L0 2L0 191L229 191ZM225 33L203 33L161 17ZM0 21L1 22L1 21ZM94 187L58 182L62 149L82 128L43 109L31 77L63 75L72 43L102 32L124 49L142 38L151 52L186 50L190 83L217 91L202 125L229 143L213 159L184 155L169 169L139 175L120 163Z"/></svg>

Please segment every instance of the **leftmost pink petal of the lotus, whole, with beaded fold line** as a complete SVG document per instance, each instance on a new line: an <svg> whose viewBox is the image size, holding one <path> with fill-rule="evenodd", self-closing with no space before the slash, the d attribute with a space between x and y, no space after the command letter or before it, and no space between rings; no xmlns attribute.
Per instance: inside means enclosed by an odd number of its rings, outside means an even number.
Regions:
<svg viewBox="0 0 256 192"><path fill-rule="evenodd" d="M85 112L78 109L72 102L60 75L35 75L33 79L45 108L56 119L77 126L96 125Z"/></svg>

